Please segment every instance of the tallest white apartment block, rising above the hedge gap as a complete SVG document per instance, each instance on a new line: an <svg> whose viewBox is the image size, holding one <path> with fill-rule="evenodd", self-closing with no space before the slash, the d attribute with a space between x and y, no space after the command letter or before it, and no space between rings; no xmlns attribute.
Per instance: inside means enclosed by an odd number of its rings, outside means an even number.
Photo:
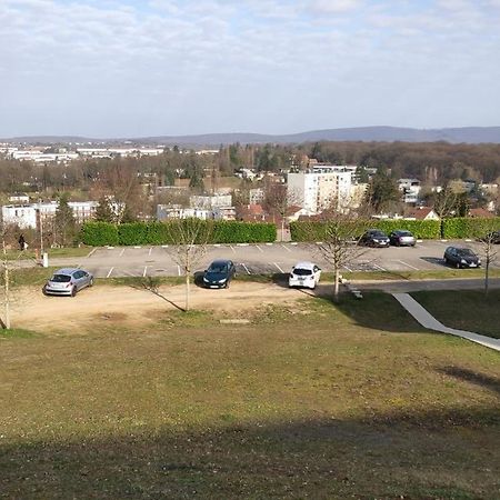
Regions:
<svg viewBox="0 0 500 500"><path fill-rule="evenodd" d="M352 171L339 166L317 166L306 172L289 173L287 193L290 203L316 214L350 202Z"/></svg>

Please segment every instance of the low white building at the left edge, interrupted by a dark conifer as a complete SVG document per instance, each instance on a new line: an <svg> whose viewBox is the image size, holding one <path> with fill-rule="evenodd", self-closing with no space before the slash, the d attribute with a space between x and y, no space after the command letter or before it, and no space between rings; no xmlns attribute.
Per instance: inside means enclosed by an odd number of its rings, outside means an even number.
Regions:
<svg viewBox="0 0 500 500"><path fill-rule="evenodd" d="M49 201L47 203L4 204L2 206L2 220L7 224L17 224L21 229L37 229L40 219L47 221L48 219L56 217L58 206L58 201ZM93 219L99 202L70 201L68 202L68 206L73 211L74 220L78 223L82 223Z"/></svg>

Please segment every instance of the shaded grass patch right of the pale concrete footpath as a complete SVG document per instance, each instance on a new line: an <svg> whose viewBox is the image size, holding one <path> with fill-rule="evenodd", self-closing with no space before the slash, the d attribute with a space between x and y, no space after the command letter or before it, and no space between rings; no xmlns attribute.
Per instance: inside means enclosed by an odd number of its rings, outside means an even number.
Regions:
<svg viewBox="0 0 500 500"><path fill-rule="evenodd" d="M418 291L411 293L447 327L500 339L500 290Z"/></svg>

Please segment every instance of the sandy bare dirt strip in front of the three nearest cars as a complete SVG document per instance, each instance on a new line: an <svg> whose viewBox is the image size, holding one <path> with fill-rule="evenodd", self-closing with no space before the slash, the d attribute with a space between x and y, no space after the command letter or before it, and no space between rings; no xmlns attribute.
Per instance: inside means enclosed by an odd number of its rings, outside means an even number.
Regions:
<svg viewBox="0 0 500 500"><path fill-rule="evenodd" d="M191 287L190 308L243 312L272 303L292 303L303 299L300 290L272 283L233 282L230 289L207 290ZM77 297L44 297L40 289L27 288L12 308L12 326L30 330L80 329L84 321L143 323L153 320L153 311L183 309L186 289L161 287L158 293L132 287L98 286Z"/></svg>

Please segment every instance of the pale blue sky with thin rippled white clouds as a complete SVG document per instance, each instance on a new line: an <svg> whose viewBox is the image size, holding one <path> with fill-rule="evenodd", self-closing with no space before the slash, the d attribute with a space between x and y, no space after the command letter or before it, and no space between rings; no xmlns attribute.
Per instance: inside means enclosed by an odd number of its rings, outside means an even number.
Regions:
<svg viewBox="0 0 500 500"><path fill-rule="evenodd" d="M0 137L500 126L500 0L0 0Z"/></svg>

